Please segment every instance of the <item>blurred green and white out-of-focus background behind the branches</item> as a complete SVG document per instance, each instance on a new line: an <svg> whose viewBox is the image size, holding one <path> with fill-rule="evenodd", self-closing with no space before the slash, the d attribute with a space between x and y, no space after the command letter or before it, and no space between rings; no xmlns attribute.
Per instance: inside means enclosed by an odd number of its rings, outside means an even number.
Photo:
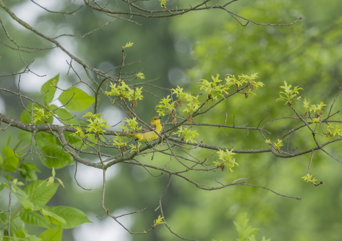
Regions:
<svg viewBox="0 0 342 241"><path fill-rule="evenodd" d="M83 4L73 15L49 13L29 0L3 2L19 18L50 37L60 34L83 35L113 19L87 8L80 0L36 1L52 11L64 11L68 3L70 9L77 9ZM98 2L106 4L107 1ZM171 8L177 5L181 8L195 2L170 0L167 6ZM155 9L160 5L156 0L143 4ZM123 8L120 3L119 6ZM216 73L219 73L222 79L228 73L236 76L242 73L258 73L265 87L257 90L257 97L245 99L234 96L219 105L215 112L194 120L223 124L228 110L227 124L233 124L235 116L237 125L248 123L249 126L256 126L268 110L270 113L265 121L294 116L290 108L274 102L278 98L278 87L284 84L284 80L304 89L301 92L303 100L306 98L310 104L324 102L327 104L326 112L328 111L338 88L342 86L341 7L339 0L240 0L229 5L229 10L258 23L291 23L299 17L302 19L291 26L259 26L249 23L242 27L227 12L212 9L172 18L130 18L138 24L116 19L108 26L84 37L64 36L57 40L85 63L103 71L119 66L122 46L127 42L134 42L133 47L125 51L125 62L136 63L125 66L125 72L142 71L147 79L155 79L155 85L163 88L175 88L176 85L180 85L192 93L198 92L199 79L210 79L211 75L216 76ZM2 9L0 17L8 34L18 44L51 47L50 43L15 23ZM246 23L243 20L241 22ZM3 29L0 31L0 40L0 75L22 71L24 64L21 56L16 50L8 48L7 45L13 47L13 44ZM22 58L26 63L34 59L30 69L37 75L27 73L21 76L23 94L37 98L41 85L58 73L59 84L63 89L78 81L66 62L70 62L70 59L61 50L30 52L22 52ZM74 68L81 78L86 78L81 66L74 64ZM117 69L114 69L110 73L117 75L116 71ZM18 76L0 79L0 88L17 91L17 84ZM86 87L84 90L90 93ZM165 89L148 86L146 90L153 91L160 97L169 94ZM154 115L154 106L158 102L159 98L146 95L144 101L139 102L136 108L137 115L147 122L149 116ZM337 111L341 104L339 98L333 111ZM300 109L302 105L302 102L298 102L295 107ZM0 91L1 113L20 119L22 110L17 96ZM116 124L126 117L126 113L104 97L100 99L99 112L103 113L110 124ZM334 118L341 120L341 115ZM268 130L272 134L267 138L275 141L286 130L297 125L298 122L294 120L276 122L269 126ZM268 147L263 143L260 134L252 131L247 136L246 131L227 129L225 132L228 136L225 136L219 129L196 127L196 130L200 133L198 141L206 144L224 147L235 145L237 149ZM16 145L17 134L14 129L11 132L1 132L0 145L4 146L8 142ZM310 132L302 131L290 137L290 149L313 146ZM333 143L325 150L342 160L340 143ZM212 153L213 151L208 150L195 150L192 155L200 158ZM155 157L152 164L165 161L163 158ZM199 240L235 240L237 232L233 220L247 213L250 224L260 228L258 239L265 236L271 240L281 241L341 240L341 163L323 152L316 151L310 173L323 181L325 186L315 187L300 178L306 174L310 153L291 159L276 158L270 153L241 154L235 158L239 168L234 173L198 172L191 177L202 183L212 182L215 176L224 183L250 177L246 180L249 184L265 186L285 195L301 197L302 200L284 198L265 189L246 186L204 191L184 180L173 178L162 197L162 203L167 223L174 232L185 238ZM46 178L51 173L51 170L43 165L40 166L40 170L41 178ZM51 205L77 207L84 211L93 223L81 225L74 230L65 230L63 240L177 239L161 225L147 235L129 235L109 217L97 218L96 216L104 215L101 207L102 171L78 165L78 182L83 187L91 189L90 191L77 186L74 173L75 165L57 170L56 176L63 180L65 188L58 189ZM158 197L167 180L167 175L152 177L137 166L125 163L114 165L107 171L105 205L114 215L141 210L148 206L144 212L120 219L134 232L147 230L159 215L153 208L158 207ZM5 199L1 199L1 205L6 205Z"/></svg>

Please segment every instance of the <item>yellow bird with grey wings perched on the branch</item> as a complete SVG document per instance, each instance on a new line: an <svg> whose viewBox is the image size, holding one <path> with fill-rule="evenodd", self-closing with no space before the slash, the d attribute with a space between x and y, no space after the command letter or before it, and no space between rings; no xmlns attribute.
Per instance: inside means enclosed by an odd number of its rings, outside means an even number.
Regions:
<svg viewBox="0 0 342 241"><path fill-rule="evenodd" d="M136 137L137 139L141 140L142 142L151 142L158 138L158 135L161 131L161 124L160 124L160 117L154 116L151 119L151 122L149 124L149 127L145 127L135 133L130 134L119 134L120 136L129 136L129 137ZM156 132L152 131L151 129L155 130Z"/></svg>

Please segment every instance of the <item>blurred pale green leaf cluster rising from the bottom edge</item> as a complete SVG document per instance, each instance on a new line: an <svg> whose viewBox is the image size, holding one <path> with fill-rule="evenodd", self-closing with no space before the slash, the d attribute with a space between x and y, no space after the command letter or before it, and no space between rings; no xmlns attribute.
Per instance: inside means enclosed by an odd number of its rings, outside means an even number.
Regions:
<svg viewBox="0 0 342 241"><path fill-rule="evenodd" d="M239 233L236 241L257 241L255 235L257 235L259 228L252 228L252 226L248 225L249 219L246 216L245 214L238 221L234 221L236 231ZM271 241L271 239L266 239L263 236L261 241Z"/></svg>

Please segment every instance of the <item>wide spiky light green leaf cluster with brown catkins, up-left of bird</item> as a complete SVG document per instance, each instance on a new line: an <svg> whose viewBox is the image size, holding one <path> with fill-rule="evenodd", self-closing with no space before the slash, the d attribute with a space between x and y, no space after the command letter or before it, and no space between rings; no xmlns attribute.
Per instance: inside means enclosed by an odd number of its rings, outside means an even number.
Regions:
<svg viewBox="0 0 342 241"><path fill-rule="evenodd" d="M118 84L110 83L110 91L105 91L106 95L117 96L116 99L121 100L121 103L124 102L124 99L127 98L129 102L131 102L134 106L136 106L136 100L141 100L144 98L142 93L142 88L136 88L135 91L128 86L124 81L119 81ZM114 99L114 101L116 100Z"/></svg>

